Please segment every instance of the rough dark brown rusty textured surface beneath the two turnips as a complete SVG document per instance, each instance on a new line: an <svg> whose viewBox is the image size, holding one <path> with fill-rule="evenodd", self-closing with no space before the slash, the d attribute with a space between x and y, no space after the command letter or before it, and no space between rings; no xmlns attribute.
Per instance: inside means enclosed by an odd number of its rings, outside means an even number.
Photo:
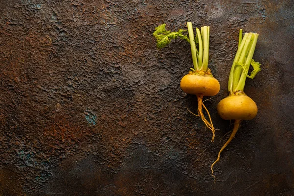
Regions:
<svg viewBox="0 0 294 196"><path fill-rule="evenodd" d="M211 27L214 143L179 86L189 44L152 37L187 21ZM214 183L240 28L260 34L245 85L259 112ZM293 35L293 0L0 0L0 196L293 196Z"/></svg>

